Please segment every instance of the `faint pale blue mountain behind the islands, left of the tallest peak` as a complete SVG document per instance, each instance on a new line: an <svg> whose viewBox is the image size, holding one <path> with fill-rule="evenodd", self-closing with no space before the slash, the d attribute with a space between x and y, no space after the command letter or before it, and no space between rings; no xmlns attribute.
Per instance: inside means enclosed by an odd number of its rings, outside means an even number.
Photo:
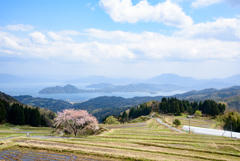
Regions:
<svg viewBox="0 0 240 161"><path fill-rule="evenodd" d="M85 78L67 80L64 83L112 83L112 84L130 84L130 83L139 83L142 80L131 79L131 78L108 78L104 76L89 76Z"/></svg>

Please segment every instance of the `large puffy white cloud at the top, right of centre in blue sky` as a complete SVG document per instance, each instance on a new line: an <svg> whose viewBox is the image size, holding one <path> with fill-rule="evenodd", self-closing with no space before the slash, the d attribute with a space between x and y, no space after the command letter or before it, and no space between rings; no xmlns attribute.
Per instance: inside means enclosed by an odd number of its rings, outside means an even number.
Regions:
<svg viewBox="0 0 240 161"><path fill-rule="evenodd" d="M100 0L99 5L115 22L152 21L176 27L189 26L193 23L192 18L186 16L182 8L171 0L154 6L147 0L142 0L135 6L131 0Z"/></svg>

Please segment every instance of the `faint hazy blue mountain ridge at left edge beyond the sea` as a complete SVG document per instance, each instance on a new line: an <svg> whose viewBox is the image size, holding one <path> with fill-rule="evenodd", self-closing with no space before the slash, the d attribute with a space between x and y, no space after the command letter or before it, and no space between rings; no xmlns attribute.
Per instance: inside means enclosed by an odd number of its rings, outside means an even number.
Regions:
<svg viewBox="0 0 240 161"><path fill-rule="evenodd" d="M9 74L0 74L0 83L48 83L48 82L56 81L46 78L28 78Z"/></svg>

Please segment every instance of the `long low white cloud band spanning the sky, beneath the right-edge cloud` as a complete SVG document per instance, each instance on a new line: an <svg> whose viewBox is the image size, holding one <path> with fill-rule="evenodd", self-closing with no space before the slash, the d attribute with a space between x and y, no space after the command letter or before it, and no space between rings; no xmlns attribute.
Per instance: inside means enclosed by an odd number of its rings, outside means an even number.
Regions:
<svg viewBox="0 0 240 161"><path fill-rule="evenodd" d="M86 30L93 41L73 43L47 41L40 32L20 39L0 32L0 54L59 62L181 62L239 61L240 42L192 37L164 36L155 32ZM95 38L103 39L96 41ZM110 42L108 42L110 41ZM114 43L116 42L116 43Z"/></svg>

